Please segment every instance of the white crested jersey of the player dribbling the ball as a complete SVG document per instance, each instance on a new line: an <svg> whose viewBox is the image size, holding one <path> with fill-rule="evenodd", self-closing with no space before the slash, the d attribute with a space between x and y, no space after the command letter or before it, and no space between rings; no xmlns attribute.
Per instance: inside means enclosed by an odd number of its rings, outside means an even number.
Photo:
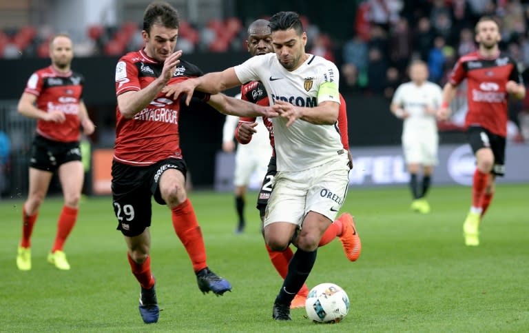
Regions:
<svg viewBox="0 0 529 333"><path fill-rule="evenodd" d="M338 88L338 68L331 61L309 54L292 72L286 70L275 53L252 57L235 66L240 82L261 81L270 105L275 99L313 108L323 101L340 103L338 95L320 94L320 85L334 82ZM271 119L276 140L278 171L300 171L322 165L343 153L340 133L335 125L315 125L301 119L287 128L287 119Z"/></svg>

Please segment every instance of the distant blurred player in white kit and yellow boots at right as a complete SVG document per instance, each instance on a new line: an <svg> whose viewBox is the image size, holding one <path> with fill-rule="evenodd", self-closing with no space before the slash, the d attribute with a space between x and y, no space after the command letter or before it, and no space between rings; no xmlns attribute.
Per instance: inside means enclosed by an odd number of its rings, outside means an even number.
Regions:
<svg viewBox="0 0 529 333"><path fill-rule="evenodd" d="M430 205L426 192L430 188L433 168L437 165L439 136L435 112L442 102L442 89L439 85L426 81L428 67L424 61L413 61L409 68L410 82L402 83L391 101L391 112L403 119L402 149L413 195L411 209L427 214ZM422 167L422 182L417 174Z"/></svg>

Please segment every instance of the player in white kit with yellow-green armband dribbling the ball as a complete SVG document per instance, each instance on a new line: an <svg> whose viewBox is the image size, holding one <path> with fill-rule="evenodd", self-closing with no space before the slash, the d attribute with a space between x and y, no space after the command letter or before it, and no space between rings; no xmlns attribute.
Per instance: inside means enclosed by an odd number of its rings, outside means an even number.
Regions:
<svg viewBox="0 0 529 333"><path fill-rule="evenodd" d="M290 303L313 268L322 234L344 202L349 159L337 126L338 68L305 53L307 34L298 14L278 12L269 21L275 54L253 57L163 91L191 96L195 88L220 92L248 81L264 84L280 114L272 119L278 173L265 213L264 238L272 250L284 250L291 242L298 248L272 316L291 320Z"/></svg>

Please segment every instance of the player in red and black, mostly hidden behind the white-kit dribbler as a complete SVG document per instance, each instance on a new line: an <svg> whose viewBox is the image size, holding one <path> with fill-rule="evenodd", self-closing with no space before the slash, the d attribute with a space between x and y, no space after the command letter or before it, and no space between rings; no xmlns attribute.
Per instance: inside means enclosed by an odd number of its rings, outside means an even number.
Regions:
<svg viewBox="0 0 529 333"><path fill-rule="evenodd" d="M259 19L251 23L248 28L247 46L248 51L252 56L273 52L271 44L271 31L268 23L269 21ZM260 81L252 81L242 85L240 88L240 93L241 99L245 101L263 106L269 105L267 91ZM261 190L257 200L257 209L259 210L261 221L264 221L264 210L267 207L268 199L270 198L270 194L272 192L273 177L276 176L277 168L276 150L273 138L273 125L271 121L267 119L267 117L263 117L262 120L269 131L270 145L272 146L272 157L268 165L267 174L264 176L262 181ZM257 123L255 117L240 118L235 131L235 137L238 143L249 143L251 141L252 134L256 132L254 129L256 125ZM347 152L349 152L346 103L341 95L340 113L338 115L338 130L342 134L342 144L344 145L344 148L347 150ZM353 164L350 152L349 161L351 163L350 167L352 168ZM337 236L340 237L340 241L342 241L347 258L350 261L356 261L360 256L362 243L360 241L360 237L356 233L355 223L351 214L344 213L336 221L331 223L329 228L327 228L327 230L322 235L318 246L321 247L326 245L327 243L333 241L333 239L335 239ZM291 248L287 248L284 251L273 251L268 245L266 245L266 248L274 268L276 268L278 273L284 279L285 276L287 276L289 262L293 256ZM304 307L308 294L309 288L307 287L307 284L304 284L298 294L294 297L290 307Z"/></svg>

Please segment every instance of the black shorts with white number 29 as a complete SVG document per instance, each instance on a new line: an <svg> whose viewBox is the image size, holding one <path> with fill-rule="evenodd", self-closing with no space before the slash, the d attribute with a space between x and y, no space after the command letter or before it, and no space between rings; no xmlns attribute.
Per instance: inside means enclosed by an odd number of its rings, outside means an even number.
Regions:
<svg viewBox="0 0 529 333"><path fill-rule="evenodd" d="M187 174L183 159L165 159L147 166L112 161L112 205L118 219L117 230L125 236L138 236L151 225L152 196L157 203L165 205L158 182L168 169Z"/></svg>

